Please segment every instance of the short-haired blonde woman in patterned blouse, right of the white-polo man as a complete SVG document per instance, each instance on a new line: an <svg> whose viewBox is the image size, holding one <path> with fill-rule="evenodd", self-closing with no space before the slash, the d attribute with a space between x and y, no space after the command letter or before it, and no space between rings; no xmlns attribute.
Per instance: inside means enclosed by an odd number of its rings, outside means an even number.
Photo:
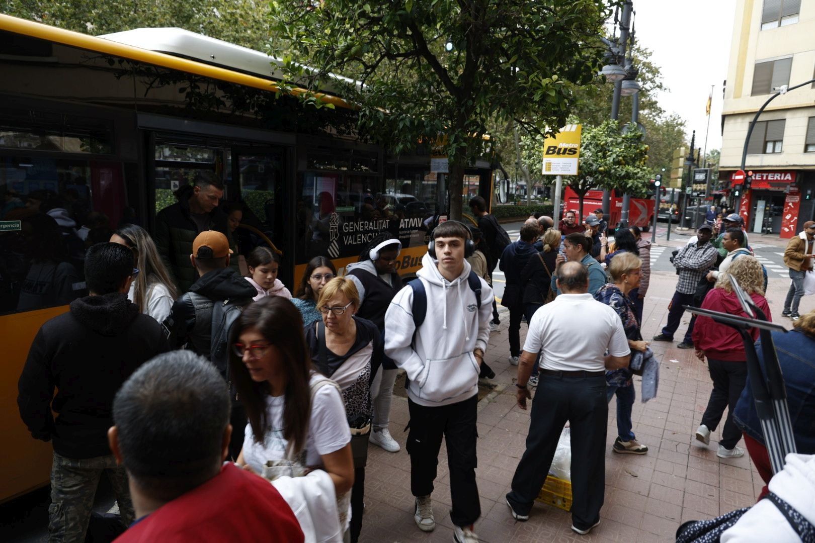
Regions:
<svg viewBox="0 0 815 543"><path fill-rule="evenodd" d="M612 256L608 271L613 282L603 285L594 295L594 299L608 305L619 315L623 322L625 337L628 338L628 347L634 351L644 352L648 348L648 343L642 339L640 320L637 318L634 301L630 296L640 284L642 260L632 252L621 250ZM632 431L631 411L634 400L637 399L632 371L628 368L606 371L606 386L608 401L617 396L617 439L611 450L615 453L647 453L648 447L638 442L637 436Z"/></svg>

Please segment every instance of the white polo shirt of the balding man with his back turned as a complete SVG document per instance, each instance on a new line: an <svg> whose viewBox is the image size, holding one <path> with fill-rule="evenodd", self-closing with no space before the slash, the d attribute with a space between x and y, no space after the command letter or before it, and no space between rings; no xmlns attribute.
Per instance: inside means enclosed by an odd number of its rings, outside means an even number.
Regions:
<svg viewBox="0 0 815 543"><path fill-rule="evenodd" d="M631 353L619 315L590 294L562 294L535 311L523 344L526 353L540 351L544 370L605 370L606 349Z"/></svg>

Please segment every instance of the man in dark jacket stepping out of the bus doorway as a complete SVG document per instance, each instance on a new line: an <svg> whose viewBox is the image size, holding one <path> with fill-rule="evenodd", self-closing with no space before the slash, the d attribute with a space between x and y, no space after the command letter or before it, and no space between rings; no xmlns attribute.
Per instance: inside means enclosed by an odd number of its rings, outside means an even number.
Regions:
<svg viewBox="0 0 815 543"><path fill-rule="evenodd" d="M218 208L223 197L223 184L214 173L197 173L193 185L181 187L176 197L178 202L156 215L153 239L178 289L187 292L198 278L189 257L196 235L217 230L227 236L232 249L237 250L237 247L231 238L227 213ZM237 259L232 267L238 271Z"/></svg>

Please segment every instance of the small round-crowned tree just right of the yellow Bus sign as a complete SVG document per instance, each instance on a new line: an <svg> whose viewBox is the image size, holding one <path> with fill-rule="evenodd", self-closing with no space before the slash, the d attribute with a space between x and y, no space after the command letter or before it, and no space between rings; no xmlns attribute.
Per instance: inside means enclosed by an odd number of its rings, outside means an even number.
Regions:
<svg viewBox="0 0 815 543"><path fill-rule="evenodd" d="M632 125L628 125L632 127ZM584 127L580 136L578 175L566 177L579 199L579 217L583 217L583 199L589 189L617 189L632 196L645 195L648 187L648 146L642 133L629 129L622 133L615 120L595 127Z"/></svg>

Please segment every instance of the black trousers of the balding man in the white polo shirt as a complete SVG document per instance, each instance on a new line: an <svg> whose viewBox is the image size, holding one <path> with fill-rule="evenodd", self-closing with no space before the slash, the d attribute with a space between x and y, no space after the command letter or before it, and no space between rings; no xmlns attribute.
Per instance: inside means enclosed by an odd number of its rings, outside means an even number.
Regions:
<svg viewBox="0 0 815 543"><path fill-rule="evenodd" d="M586 529L600 519L606 492L606 378L555 377L541 373L532 401L526 451L518 462L507 501L529 515L544 485L557 440L566 421L571 427L571 520Z"/></svg>

